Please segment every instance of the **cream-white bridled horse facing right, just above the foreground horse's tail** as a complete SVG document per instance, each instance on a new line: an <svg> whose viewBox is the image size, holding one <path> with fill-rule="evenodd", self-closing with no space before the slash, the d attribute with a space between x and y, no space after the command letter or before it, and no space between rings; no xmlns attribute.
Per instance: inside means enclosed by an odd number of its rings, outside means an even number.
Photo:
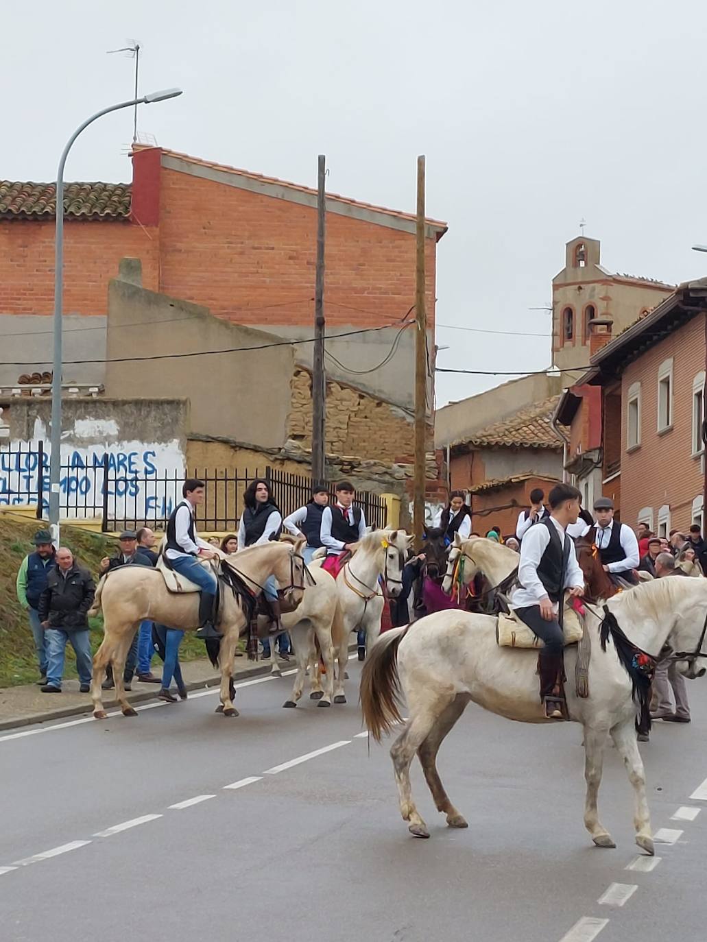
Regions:
<svg viewBox="0 0 707 942"><path fill-rule="evenodd" d="M385 599L379 585L393 598L403 588L403 566L412 537L404 530L372 530L355 544L354 555L344 563L337 577L337 615L332 625L332 641L337 658L335 704L345 704L344 674L349 660L351 632L366 630L366 647L381 633Z"/></svg>

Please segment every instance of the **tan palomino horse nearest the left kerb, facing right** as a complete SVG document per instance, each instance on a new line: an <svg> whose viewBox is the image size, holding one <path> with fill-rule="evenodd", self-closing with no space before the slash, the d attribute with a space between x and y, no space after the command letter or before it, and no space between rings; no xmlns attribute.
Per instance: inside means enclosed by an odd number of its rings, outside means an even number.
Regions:
<svg viewBox="0 0 707 942"><path fill-rule="evenodd" d="M304 559L301 555L304 537L296 544L269 543L240 550L238 554L222 557L228 566L255 595L269 576L274 576L288 599L297 603L304 593ZM223 633L219 664L221 667L221 701L225 716L238 716L229 690L233 675L233 658L238 637L247 625L247 614L235 593L222 585L222 614L220 628ZM161 625L196 631L199 627L199 593L170 593L164 578L156 569L147 566L123 566L101 578L95 601L90 609L96 615L103 609L104 639L93 658L93 678L90 696L93 716L106 719L101 702L101 683L108 662L112 661L115 694L123 716L136 716L136 711L125 699L123 666L130 642L140 626L149 619Z"/></svg>

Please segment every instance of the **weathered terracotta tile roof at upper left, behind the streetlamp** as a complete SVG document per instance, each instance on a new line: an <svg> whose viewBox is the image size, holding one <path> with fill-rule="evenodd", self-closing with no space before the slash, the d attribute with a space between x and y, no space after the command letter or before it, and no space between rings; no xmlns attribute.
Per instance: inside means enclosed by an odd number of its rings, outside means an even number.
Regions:
<svg viewBox="0 0 707 942"><path fill-rule="evenodd" d="M130 193L129 183L67 183L64 214L74 219L126 219ZM0 219L54 219L56 209L55 184L0 180Z"/></svg>

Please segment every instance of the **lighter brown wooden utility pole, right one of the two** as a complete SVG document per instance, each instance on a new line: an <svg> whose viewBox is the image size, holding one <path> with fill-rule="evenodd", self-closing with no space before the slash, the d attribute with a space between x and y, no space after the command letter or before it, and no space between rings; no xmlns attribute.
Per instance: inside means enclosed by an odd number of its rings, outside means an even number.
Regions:
<svg viewBox="0 0 707 942"><path fill-rule="evenodd" d="M417 258L415 266L415 490L413 526L418 552L425 513L425 431L427 426L427 316L425 312L425 158L418 157Z"/></svg>

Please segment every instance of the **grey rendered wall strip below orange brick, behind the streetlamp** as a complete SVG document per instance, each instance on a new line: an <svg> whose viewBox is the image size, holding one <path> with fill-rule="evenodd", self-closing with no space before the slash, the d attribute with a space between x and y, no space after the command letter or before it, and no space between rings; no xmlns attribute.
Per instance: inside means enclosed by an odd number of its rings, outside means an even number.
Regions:
<svg viewBox="0 0 707 942"><path fill-rule="evenodd" d="M15 385L23 373L51 372L54 336L52 317L0 313L0 386ZM66 314L63 318L64 382L100 384L106 379L106 317ZM73 364L72 360L99 360Z"/></svg>

